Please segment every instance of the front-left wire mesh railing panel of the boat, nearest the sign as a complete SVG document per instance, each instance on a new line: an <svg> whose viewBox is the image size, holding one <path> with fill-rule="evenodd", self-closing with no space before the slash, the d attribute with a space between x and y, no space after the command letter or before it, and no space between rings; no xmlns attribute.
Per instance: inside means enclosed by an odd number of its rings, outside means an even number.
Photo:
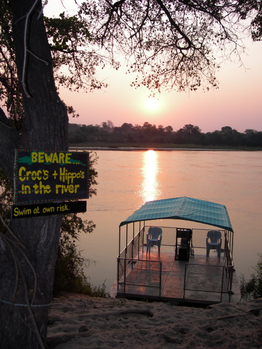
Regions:
<svg viewBox="0 0 262 349"><path fill-rule="evenodd" d="M162 263L160 261L118 258L118 265L119 284L161 287Z"/></svg>

